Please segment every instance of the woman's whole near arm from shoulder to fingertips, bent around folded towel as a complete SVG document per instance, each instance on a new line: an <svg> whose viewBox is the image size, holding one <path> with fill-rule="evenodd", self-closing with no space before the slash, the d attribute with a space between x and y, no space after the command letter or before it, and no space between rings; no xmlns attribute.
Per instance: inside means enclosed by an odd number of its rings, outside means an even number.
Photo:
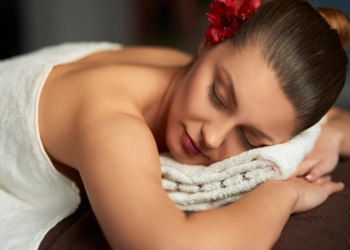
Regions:
<svg viewBox="0 0 350 250"><path fill-rule="evenodd" d="M328 179L271 181L234 204L186 216L162 188L157 147L143 120L99 116L74 129L66 160L79 169L114 249L269 249L290 213L342 188Z"/></svg>

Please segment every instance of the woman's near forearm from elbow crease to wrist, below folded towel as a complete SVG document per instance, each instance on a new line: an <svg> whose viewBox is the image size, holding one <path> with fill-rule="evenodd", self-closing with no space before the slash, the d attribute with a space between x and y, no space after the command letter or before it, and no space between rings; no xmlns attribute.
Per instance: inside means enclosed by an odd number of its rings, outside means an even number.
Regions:
<svg viewBox="0 0 350 250"><path fill-rule="evenodd" d="M187 237L196 249L270 249L278 239L297 199L279 181L269 181L225 207L190 214Z"/></svg>

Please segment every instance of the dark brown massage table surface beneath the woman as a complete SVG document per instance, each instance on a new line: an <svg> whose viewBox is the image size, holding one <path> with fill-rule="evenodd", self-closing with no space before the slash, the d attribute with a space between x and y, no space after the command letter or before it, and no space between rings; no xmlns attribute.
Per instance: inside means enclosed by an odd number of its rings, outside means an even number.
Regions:
<svg viewBox="0 0 350 250"><path fill-rule="evenodd" d="M350 249L350 159L341 159L332 177L344 182L345 189L311 211L291 215L273 250ZM110 247L88 199L83 198L75 213L46 234L39 249L105 250Z"/></svg>

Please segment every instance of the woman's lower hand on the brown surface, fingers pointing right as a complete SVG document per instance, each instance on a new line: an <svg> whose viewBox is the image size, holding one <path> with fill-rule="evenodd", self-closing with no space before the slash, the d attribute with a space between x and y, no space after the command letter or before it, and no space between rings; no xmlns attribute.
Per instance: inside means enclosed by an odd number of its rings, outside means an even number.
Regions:
<svg viewBox="0 0 350 250"><path fill-rule="evenodd" d="M344 188L343 183L332 182L329 175L321 177L313 183L307 182L300 177L292 177L285 182L298 194L293 213L311 210L322 204L328 196Z"/></svg>

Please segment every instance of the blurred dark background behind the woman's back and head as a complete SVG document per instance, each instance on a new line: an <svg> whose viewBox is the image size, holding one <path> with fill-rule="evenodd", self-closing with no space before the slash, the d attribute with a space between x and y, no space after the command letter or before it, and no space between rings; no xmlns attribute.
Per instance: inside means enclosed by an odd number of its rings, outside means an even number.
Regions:
<svg viewBox="0 0 350 250"><path fill-rule="evenodd" d="M268 1L268 0L265 0ZM283 0L279 0L283 1ZM196 52L210 0L0 0L0 59L74 41L172 46ZM348 0L310 0L350 15ZM347 49L350 55L350 48ZM338 106L350 108L350 80Z"/></svg>

